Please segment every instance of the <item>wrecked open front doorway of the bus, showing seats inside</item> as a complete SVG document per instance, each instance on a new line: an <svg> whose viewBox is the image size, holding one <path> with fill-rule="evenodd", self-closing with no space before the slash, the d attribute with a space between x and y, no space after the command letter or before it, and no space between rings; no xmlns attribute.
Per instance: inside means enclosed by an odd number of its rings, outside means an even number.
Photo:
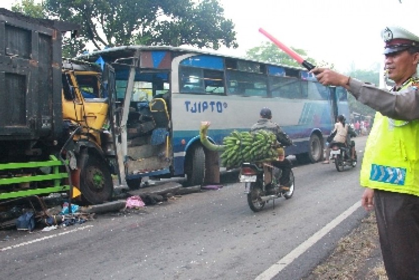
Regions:
<svg viewBox="0 0 419 280"><path fill-rule="evenodd" d="M116 66L118 165L129 187L171 172L169 73Z"/></svg>

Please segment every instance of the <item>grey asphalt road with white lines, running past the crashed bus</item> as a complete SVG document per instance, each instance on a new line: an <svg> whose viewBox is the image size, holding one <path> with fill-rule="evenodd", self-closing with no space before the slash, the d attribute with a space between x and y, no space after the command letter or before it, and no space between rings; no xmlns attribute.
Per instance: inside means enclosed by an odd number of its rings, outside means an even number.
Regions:
<svg viewBox="0 0 419 280"><path fill-rule="evenodd" d="M359 162L365 137L355 138ZM253 213L240 183L51 232L0 232L2 279L300 279L366 213L359 166L294 167L295 193Z"/></svg>

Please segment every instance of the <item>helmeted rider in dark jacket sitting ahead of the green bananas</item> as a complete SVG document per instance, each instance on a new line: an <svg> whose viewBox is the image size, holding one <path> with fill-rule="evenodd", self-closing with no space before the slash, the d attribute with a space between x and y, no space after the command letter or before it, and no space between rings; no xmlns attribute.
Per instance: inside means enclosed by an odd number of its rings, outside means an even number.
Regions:
<svg viewBox="0 0 419 280"><path fill-rule="evenodd" d="M271 109L267 107L260 110L260 118L250 128L250 132L256 132L258 130L273 132L277 137L279 146L281 147L293 145L291 138L284 131L282 131L281 127L277 123L272 121ZM283 150L282 154L280 153L278 160L273 161L272 165L276 168L282 169L282 176L279 179L280 188L283 191L288 191L290 189L290 172L292 164L289 159L285 158ZM272 184L269 184L267 187L272 187Z"/></svg>

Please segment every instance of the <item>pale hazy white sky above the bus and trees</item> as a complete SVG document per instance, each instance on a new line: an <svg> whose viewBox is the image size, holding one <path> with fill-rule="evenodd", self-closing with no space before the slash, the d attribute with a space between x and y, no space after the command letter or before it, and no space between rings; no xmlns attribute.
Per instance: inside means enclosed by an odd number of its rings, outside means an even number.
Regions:
<svg viewBox="0 0 419 280"><path fill-rule="evenodd" d="M10 9L15 0L0 0ZM235 24L239 49L220 52L244 56L268 39L261 27L288 46L316 60L369 69L383 59L380 31L399 25L419 35L418 0L219 0Z"/></svg>

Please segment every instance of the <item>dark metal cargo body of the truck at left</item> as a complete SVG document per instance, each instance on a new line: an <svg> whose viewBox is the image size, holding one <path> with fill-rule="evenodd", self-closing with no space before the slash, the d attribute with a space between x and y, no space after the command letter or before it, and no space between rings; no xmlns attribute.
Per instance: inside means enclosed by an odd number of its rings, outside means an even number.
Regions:
<svg viewBox="0 0 419 280"><path fill-rule="evenodd" d="M0 9L0 152L18 156L54 147L63 131L63 31L76 25ZM48 150L48 149L46 149Z"/></svg>

